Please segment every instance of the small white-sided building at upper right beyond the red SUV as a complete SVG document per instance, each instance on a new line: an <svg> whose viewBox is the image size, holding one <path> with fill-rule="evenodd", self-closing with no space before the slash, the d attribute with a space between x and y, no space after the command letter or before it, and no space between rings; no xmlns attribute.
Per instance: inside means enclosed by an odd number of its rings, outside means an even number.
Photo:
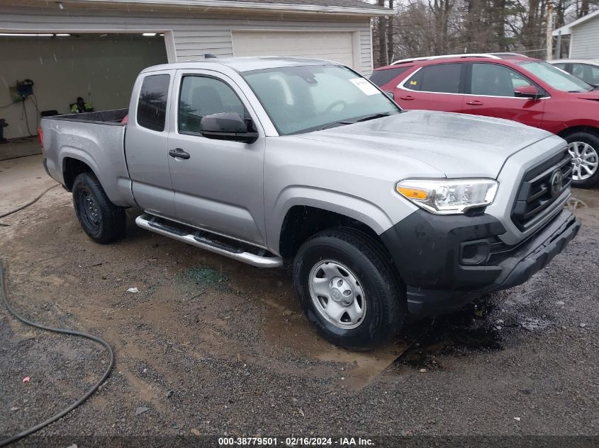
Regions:
<svg viewBox="0 0 599 448"><path fill-rule="evenodd" d="M553 35L570 36L570 59L599 58L599 11L557 28Z"/></svg>

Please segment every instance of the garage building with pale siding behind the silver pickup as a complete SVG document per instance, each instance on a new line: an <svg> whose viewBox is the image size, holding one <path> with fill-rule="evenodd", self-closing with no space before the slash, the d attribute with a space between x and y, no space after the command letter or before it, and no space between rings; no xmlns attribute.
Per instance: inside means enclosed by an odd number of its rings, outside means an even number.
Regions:
<svg viewBox="0 0 599 448"><path fill-rule="evenodd" d="M389 13L360 0L0 0L4 135L35 134L41 111L69 113L78 96L128 107L141 69L207 53L319 57L366 75L371 18Z"/></svg>

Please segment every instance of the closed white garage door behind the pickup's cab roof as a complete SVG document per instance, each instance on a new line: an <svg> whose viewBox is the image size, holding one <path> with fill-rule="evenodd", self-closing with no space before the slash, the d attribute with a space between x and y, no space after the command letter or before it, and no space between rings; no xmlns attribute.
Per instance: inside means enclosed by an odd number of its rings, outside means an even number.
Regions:
<svg viewBox="0 0 599 448"><path fill-rule="evenodd" d="M352 33L233 31L235 56L298 56L354 66Z"/></svg>

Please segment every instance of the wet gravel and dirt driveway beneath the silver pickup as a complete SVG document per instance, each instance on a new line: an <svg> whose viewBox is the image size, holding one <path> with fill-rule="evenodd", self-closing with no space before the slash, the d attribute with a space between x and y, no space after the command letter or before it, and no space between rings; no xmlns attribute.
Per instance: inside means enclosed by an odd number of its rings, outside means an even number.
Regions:
<svg viewBox="0 0 599 448"><path fill-rule="evenodd" d="M0 170L0 214L52 185L39 156L0 162ZM315 336L286 272L142 231L134 212L127 239L96 245L80 229L70 195L50 190L0 219L9 224L0 226L9 298L34 320L101 335L117 363L98 394L41 434L62 437L65 447L142 435L153 438L127 440L597 437L599 190L573 196L581 234L526 285L415 323L375 352L352 353ZM35 331L3 308L0 341L1 435L72 403L106 367L99 346ZM147 410L136 415L138 408ZM453 440L469 442L476 440Z"/></svg>

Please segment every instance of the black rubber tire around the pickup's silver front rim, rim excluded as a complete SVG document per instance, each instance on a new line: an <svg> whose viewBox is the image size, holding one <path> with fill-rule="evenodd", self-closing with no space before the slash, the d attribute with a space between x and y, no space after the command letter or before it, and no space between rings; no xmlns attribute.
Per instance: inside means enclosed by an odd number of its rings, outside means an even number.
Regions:
<svg viewBox="0 0 599 448"><path fill-rule="evenodd" d="M317 309L315 300L320 299L310 294L310 272L318 270L316 266L323 260L347 267L364 290L366 311L356 328L340 328ZM355 229L328 229L303 243L293 266L293 286L304 314L318 333L349 350L371 350L381 345L408 316L405 288L388 254L379 241Z"/></svg>

